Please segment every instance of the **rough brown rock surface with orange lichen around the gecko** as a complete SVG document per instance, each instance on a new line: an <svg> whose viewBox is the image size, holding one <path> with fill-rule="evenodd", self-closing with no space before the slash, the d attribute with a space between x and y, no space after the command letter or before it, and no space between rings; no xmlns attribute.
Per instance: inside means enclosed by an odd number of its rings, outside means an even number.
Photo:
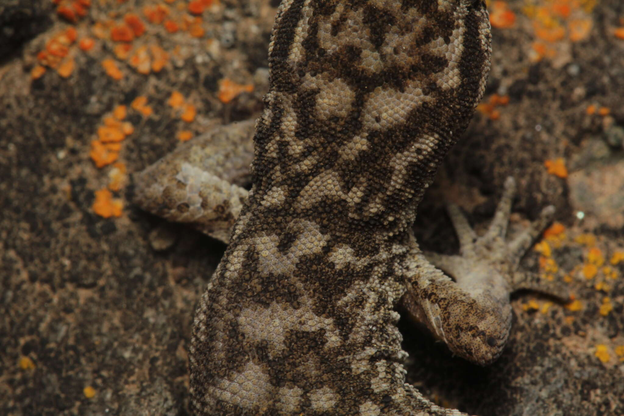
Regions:
<svg viewBox="0 0 624 416"><path fill-rule="evenodd" d="M137 172L175 147L183 130L196 135L257 114L276 3L214 2L200 21L185 11L187 3L183 11L162 3L168 16L150 22L158 16L144 7L156 3L93 2L73 25L50 10L54 24L2 64L0 414L187 414L190 323L224 246L165 226L157 244L163 251L155 251L150 233L162 221L130 204L131 185L113 192L124 205L120 217L97 215L95 191L110 185L113 173L110 166L95 167L91 141L110 112L127 105L124 120L134 132L119 161ZM475 224L486 224L505 177L513 175L519 183L515 225L553 203L565 226L547 240L552 253L546 256L543 246L541 254L532 251L524 268L569 281L578 302L565 307L531 293L515 295L509 347L485 368L451 357L402 321L408 377L432 400L480 416L624 414L624 259L611 263L624 251L618 217L624 151L613 138L624 126L624 40L613 35L624 9L607 0L589 13L572 10L572 17L591 22L587 37L547 42L553 52L538 62L535 18L516 3L509 6L514 25L492 32L485 97L487 104L494 94L509 96L509 104L475 114L426 196L416 229L424 248L451 253L456 247L444 241L453 231L441 201L458 202ZM110 34L127 13L139 16L146 30L133 36L122 59L121 42ZM184 16L191 16L186 31ZM557 18L569 28L572 17ZM168 31L167 19L180 30ZM38 52L68 27L77 31L63 57L73 59L72 71L59 75L62 61L34 79ZM79 45L86 37L95 46L84 51ZM157 61L152 45L168 59L158 72L152 65L149 74L139 73L140 63L130 60L145 46ZM107 75L104 59L116 62L122 79ZM228 101L224 79L253 90L243 88ZM173 91L197 110L192 122L168 104ZM133 106L137 97L147 97L147 104ZM610 114L601 115L600 107ZM547 161L560 172L557 158L568 175L548 173Z"/></svg>

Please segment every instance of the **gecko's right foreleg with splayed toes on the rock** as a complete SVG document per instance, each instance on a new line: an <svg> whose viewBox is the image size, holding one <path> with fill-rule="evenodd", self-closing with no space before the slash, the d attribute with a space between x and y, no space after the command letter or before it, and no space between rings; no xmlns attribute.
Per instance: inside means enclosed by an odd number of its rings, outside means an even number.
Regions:
<svg viewBox="0 0 624 416"><path fill-rule="evenodd" d="M569 296L562 284L517 270L522 256L552 219L554 207L544 208L537 221L506 241L514 192L515 181L509 177L494 219L480 237L459 207L449 206L459 255L421 253L414 240L407 264L403 306L454 354L475 364L490 364L502 353L512 321L511 293L530 289L562 301Z"/></svg>

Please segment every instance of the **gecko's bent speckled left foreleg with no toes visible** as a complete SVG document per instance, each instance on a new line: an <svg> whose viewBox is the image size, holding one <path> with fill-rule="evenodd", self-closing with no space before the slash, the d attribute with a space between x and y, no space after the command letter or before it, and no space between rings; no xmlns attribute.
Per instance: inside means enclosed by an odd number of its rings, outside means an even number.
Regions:
<svg viewBox="0 0 624 416"><path fill-rule="evenodd" d="M230 242L248 191L254 121L211 130L134 175L134 203L169 221L188 223Z"/></svg>

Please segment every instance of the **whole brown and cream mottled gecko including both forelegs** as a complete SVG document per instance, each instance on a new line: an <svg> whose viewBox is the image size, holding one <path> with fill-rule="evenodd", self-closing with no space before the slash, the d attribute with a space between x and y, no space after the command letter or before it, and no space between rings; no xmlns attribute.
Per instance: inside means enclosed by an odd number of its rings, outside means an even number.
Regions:
<svg viewBox="0 0 624 416"><path fill-rule="evenodd" d="M507 241L512 178L482 236L449 207L459 254L414 238L490 49L482 0L283 0L260 118L135 175L139 206L229 244L193 321L193 414L462 415L406 383L397 304L487 365L509 337L512 291L565 298L517 270L554 209Z"/></svg>

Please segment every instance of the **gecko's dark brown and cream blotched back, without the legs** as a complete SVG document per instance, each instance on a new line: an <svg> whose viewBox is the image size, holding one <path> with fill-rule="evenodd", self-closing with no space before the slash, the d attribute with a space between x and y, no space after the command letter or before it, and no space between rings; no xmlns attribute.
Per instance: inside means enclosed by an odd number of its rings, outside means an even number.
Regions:
<svg viewBox="0 0 624 416"><path fill-rule="evenodd" d="M195 316L196 414L459 414L405 384L393 307L489 48L480 0L282 2L253 186Z"/></svg>

